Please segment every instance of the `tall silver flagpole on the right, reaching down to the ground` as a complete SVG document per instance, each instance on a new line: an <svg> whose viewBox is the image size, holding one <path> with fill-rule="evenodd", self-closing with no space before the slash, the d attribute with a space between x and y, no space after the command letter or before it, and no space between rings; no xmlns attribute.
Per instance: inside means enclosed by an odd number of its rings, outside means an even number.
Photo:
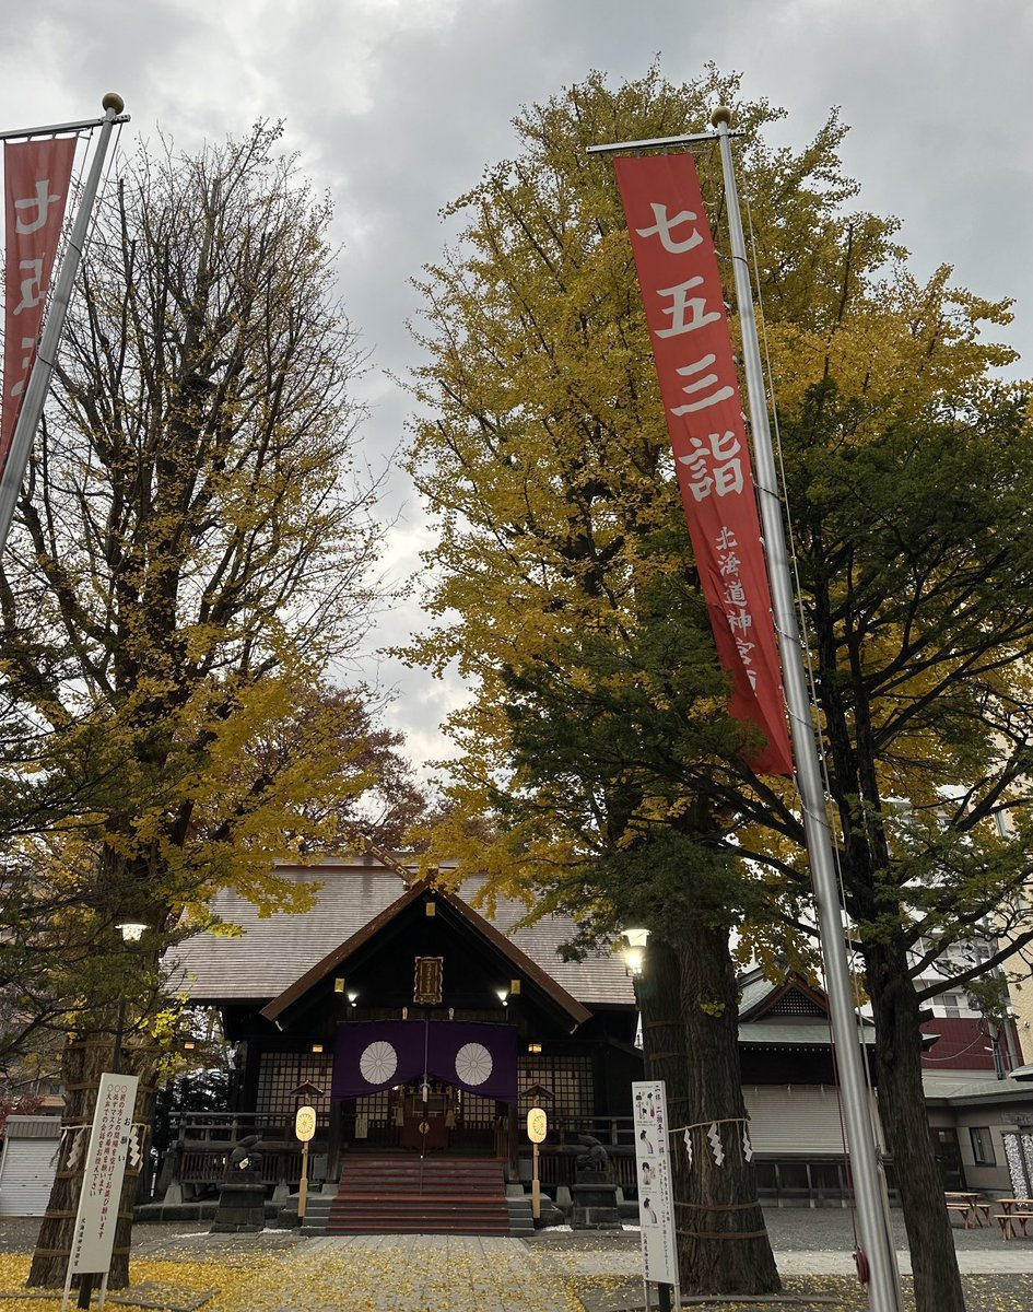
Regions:
<svg viewBox="0 0 1033 1312"><path fill-rule="evenodd" d="M767 392L760 367L760 348L756 337L750 265L746 257L746 239L739 215L739 197L735 171L731 163L731 140L728 109L716 109L711 122L717 129L721 144L721 165L725 173L725 199L728 226L731 237L731 257L735 270L735 297L742 328L742 352L746 366L746 391L750 399L752 422L754 461L764 527L764 546L771 577L771 600L775 626L781 649L785 699L793 732L793 756L797 785L804 804L804 828L810 878L818 909L818 928L825 956L825 976L831 1004L832 1035L839 1064L839 1085L849 1141L851 1170L853 1174L857 1215L863 1250L870 1269L872 1312L902 1312L901 1278L897 1270L897 1252L889 1229L886 1193L876 1155L874 1126L868 1101L868 1085L861 1065L861 1044L857 1033L857 1013L851 994L849 966L840 918L839 890L836 886L832 838L828 830L825 789L822 786L818 747L814 740L810 698L804 674L804 652L793 605L793 586L789 575L789 555L785 547L785 527L779 499L779 480L775 453L768 425Z"/></svg>

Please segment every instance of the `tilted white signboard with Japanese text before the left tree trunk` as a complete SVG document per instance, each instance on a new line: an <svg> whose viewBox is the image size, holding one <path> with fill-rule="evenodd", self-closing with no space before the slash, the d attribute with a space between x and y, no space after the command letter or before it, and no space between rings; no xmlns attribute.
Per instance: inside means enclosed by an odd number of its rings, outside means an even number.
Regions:
<svg viewBox="0 0 1033 1312"><path fill-rule="evenodd" d="M111 1265L138 1084L135 1075L101 1076L68 1258L69 1275L106 1273Z"/></svg>

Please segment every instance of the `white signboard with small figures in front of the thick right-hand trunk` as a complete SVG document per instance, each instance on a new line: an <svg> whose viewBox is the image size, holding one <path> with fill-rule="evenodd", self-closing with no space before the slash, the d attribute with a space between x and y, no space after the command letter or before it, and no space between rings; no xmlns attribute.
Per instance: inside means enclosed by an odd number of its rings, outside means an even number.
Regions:
<svg viewBox="0 0 1033 1312"><path fill-rule="evenodd" d="M636 1080L632 1084L632 1107L642 1274L646 1281L676 1286L678 1249L674 1237L667 1088L663 1080Z"/></svg>

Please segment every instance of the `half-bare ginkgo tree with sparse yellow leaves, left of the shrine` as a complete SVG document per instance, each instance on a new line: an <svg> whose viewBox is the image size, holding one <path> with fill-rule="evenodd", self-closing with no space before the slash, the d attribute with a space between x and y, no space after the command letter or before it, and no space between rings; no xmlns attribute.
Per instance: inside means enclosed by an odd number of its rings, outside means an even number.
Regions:
<svg viewBox="0 0 1033 1312"><path fill-rule="evenodd" d="M109 192L0 573L13 1023L67 1023L69 1123L119 1021L153 1092L159 956L215 890L298 907L274 858L349 841L385 773L414 798L370 698L322 684L367 630L376 530L329 202L278 135L142 151ZM63 1281L64 1166L34 1284Z"/></svg>

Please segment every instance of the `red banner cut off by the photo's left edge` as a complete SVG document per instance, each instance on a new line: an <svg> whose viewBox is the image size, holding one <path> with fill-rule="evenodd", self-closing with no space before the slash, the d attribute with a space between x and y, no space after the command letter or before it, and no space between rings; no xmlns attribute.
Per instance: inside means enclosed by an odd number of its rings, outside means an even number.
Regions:
<svg viewBox="0 0 1033 1312"><path fill-rule="evenodd" d="M7 464L21 399L29 386L29 375L39 345L47 289L60 244L75 148L75 136L7 142L4 146L7 304L0 474Z"/></svg>

